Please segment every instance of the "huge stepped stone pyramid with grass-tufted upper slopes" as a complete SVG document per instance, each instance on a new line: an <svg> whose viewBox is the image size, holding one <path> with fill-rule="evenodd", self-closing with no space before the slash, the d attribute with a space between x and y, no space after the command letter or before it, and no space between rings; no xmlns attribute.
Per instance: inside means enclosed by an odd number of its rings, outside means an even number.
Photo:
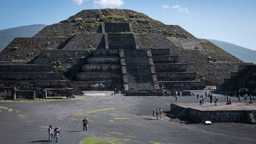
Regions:
<svg viewBox="0 0 256 144"><path fill-rule="evenodd" d="M80 90L114 88L203 89L206 85L223 84L231 72L239 71L239 66L252 65L207 40L197 39L178 25L165 25L127 9L81 11L45 27L34 37L14 39L0 53L0 61L5 66L0 68L1 89L37 88L22 85L25 80L36 79L24 79L30 71L18 68L47 65L52 66L48 72L62 75L55 80L68 82L62 87L64 93L66 88L79 94ZM17 79L1 69L14 69ZM21 70L23 75L18 74ZM10 79L5 79L8 76ZM45 73L37 77L49 81ZM12 84L7 85L6 81Z"/></svg>

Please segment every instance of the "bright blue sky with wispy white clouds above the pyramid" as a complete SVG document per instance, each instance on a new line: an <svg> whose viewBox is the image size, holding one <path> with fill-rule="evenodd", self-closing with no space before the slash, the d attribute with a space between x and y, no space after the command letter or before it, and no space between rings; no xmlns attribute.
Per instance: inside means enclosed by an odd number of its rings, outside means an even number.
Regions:
<svg viewBox="0 0 256 144"><path fill-rule="evenodd" d="M255 0L1 0L0 30L53 24L82 9L120 8L177 24L198 38L256 50Z"/></svg>

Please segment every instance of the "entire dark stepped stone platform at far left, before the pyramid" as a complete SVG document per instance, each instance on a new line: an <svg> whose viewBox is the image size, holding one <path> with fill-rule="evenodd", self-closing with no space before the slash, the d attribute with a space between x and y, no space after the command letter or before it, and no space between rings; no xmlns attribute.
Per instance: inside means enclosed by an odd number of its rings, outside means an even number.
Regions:
<svg viewBox="0 0 256 144"><path fill-rule="evenodd" d="M53 72L49 65L1 65L0 97L65 98L73 94L62 79L62 73Z"/></svg>

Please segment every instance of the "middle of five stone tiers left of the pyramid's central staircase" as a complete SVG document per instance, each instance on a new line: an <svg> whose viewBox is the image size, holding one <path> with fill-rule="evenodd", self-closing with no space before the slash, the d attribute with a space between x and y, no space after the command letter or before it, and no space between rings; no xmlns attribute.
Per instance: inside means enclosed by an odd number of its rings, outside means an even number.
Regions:
<svg viewBox="0 0 256 144"><path fill-rule="evenodd" d="M110 64L86 64L82 66L82 72L120 72L120 65Z"/></svg>

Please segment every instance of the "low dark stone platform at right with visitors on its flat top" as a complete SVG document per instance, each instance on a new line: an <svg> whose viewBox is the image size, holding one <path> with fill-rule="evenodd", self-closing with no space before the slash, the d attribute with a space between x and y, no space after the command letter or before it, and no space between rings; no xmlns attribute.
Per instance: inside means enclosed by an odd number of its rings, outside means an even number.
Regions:
<svg viewBox="0 0 256 144"><path fill-rule="evenodd" d="M188 119L196 123L212 121L213 123L252 123L256 124L256 104L245 103L180 103L171 104L171 110L167 114L171 118Z"/></svg>

